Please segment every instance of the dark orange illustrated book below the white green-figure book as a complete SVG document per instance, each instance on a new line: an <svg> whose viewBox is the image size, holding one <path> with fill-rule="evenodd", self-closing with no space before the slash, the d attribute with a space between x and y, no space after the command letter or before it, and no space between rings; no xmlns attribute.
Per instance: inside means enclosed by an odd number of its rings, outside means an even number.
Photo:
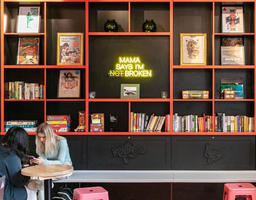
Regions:
<svg viewBox="0 0 256 200"><path fill-rule="evenodd" d="M20 37L18 43L17 64L38 64L39 38Z"/></svg>

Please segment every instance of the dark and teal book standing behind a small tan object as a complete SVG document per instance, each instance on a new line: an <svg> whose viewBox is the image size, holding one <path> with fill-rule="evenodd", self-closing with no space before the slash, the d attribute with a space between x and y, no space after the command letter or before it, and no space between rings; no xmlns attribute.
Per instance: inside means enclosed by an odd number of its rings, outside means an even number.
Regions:
<svg viewBox="0 0 256 200"><path fill-rule="evenodd" d="M220 97L225 98L225 90L235 90L235 98L244 98L243 79L239 77L223 77L220 81Z"/></svg>

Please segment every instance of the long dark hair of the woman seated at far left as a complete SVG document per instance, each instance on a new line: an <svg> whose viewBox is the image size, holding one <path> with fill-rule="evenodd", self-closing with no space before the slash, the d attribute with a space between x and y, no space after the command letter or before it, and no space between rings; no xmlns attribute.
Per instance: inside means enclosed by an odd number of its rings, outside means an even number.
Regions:
<svg viewBox="0 0 256 200"><path fill-rule="evenodd" d="M20 158L21 164L28 162L27 152L29 149L28 133L21 127L11 127L2 138L2 143L14 151Z"/></svg>

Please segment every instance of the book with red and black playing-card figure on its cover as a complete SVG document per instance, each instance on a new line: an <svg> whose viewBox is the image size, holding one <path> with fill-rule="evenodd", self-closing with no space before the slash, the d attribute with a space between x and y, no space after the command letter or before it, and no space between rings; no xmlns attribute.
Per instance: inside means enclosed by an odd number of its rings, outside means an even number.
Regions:
<svg viewBox="0 0 256 200"><path fill-rule="evenodd" d="M222 32L244 32L243 6L222 6Z"/></svg>

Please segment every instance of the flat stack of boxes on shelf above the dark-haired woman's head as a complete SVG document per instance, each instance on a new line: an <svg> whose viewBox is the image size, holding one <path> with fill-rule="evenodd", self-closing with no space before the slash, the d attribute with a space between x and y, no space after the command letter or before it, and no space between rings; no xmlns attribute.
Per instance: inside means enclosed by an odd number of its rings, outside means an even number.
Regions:
<svg viewBox="0 0 256 200"><path fill-rule="evenodd" d="M11 127L21 127L27 132L35 132L38 126L38 120L9 120L4 121L4 131L8 131Z"/></svg>

